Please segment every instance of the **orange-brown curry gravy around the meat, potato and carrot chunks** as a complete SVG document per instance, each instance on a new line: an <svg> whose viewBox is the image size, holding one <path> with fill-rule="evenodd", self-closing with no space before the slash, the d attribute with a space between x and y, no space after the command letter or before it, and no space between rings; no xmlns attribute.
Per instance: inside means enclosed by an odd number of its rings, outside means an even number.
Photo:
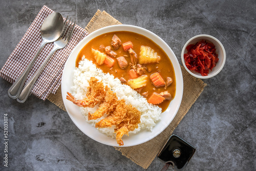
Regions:
<svg viewBox="0 0 256 171"><path fill-rule="evenodd" d="M129 80L130 78L129 78L128 72L131 69L130 65L128 65L126 69L121 69L118 65L116 58L119 56L124 56L127 62L131 63L130 54L129 52L124 52L122 45L117 50L115 50L111 46L111 41L114 34L116 34L120 38L120 40L122 41L122 44L127 41L131 41L133 44L133 50L138 55L138 58L139 58L141 46L151 47L152 49L154 49L155 52L157 52L158 56L161 57L158 63L146 64L146 67L150 69L151 72L145 72L145 74L143 74L143 75L147 75L147 82L146 82L146 87L143 87L140 94L142 94L143 92L148 92L148 96L146 97L146 99L148 100L148 98L150 98L150 96L154 92L160 94L161 92L168 91L174 98L176 93L176 78L175 78L175 72L174 72L172 62L170 61L166 53L157 44L155 44L154 41L137 33L119 31L119 32L106 33L98 37L95 37L90 42L88 42L88 44L84 46L79 52L76 58L76 67L78 67L79 61L82 59L82 57L85 56L87 59L92 60L93 63L95 63L95 65L98 68L100 68L104 73L110 73L114 75L114 77L116 78L123 77L126 81ZM109 68L104 64L100 66L97 65L94 55L92 53L92 49L99 50L100 45L103 45L104 47L111 46L111 50L117 53L116 58L114 58L115 59L114 66L112 68ZM151 74L156 72L160 73L164 81L166 81L166 77L171 77L173 79L173 83L170 84L170 86L168 86L166 89L165 87L156 88L150 79ZM170 100L164 100L162 103L157 105L160 108L162 108L162 112L164 112L167 109L169 103L170 103Z"/></svg>

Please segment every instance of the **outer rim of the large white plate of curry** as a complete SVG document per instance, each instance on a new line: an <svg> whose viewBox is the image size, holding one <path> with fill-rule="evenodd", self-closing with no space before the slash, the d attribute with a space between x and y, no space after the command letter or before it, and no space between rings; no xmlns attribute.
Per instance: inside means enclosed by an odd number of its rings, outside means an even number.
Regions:
<svg viewBox="0 0 256 171"><path fill-rule="evenodd" d="M116 30L117 28L124 28L124 30ZM108 31L107 31L108 30ZM170 108L170 105L169 107L167 108L166 111L164 111L163 113L172 113L172 117L169 117L169 120L159 120L157 121L158 124L155 125L155 127L153 128L153 130L156 128L158 130L158 132L154 135L151 135L149 137L146 137L145 139L141 140L140 142L135 142L135 143L131 143L131 144L125 144L123 146L134 146L134 145L138 145L138 144L141 144L141 143L144 143L148 140L151 140L153 139L154 137L156 137L157 135L159 135L162 131L164 131L166 129L166 127L170 124L170 122L173 121L174 117L177 115L178 113L178 110L180 108L180 105L181 105L181 100L182 100L182 96L183 96L183 76L182 76L182 71L181 71L181 67L180 67L180 64L179 64L179 61L177 59L177 56L175 55L175 53L173 52L173 50L166 44L166 42L160 38L159 36L157 36L155 33L149 31L149 30L146 30L144 28L141 28L141 27L138 27L138 26L133 26L133 25L114 25L114 26L108 26L108 27L104 27L104 28L101 28L101 29L98 29L92 33L90 33L89 35L87 35L86 37L84 37L79 43L78 45L76 45L76 47L72 50L72 52L70 53L70 56L69 58L67 59L67 62L65 64L65 67L64 67L64 70L63 70L63 74L62 74L62 80L61 80L61 84L62 85L65 85L65 84L72 84L72 83L68 83L68 80L66 78L65 80L65 77L67 76L67 72L68 70L66 70L66 68L70 68L70 64L68 65L67 63L69 61L71 61L71 57L74 58L74 55L77 53L77 47L83 47L85 46L91 39L93 39L94 37L97 37L98 35L101 35L101 34L104 34L104 33L108 33L108 32L115 32L115 31L129 31L129 32L135 32L137 34L141 34L141 35L144 35L148 38L150 38L152 41L154 41L156 44L158 44L157 42L161 42L161 44L163 44L164 47L161 47L162 50L167 54L167 56L171 59L170 56L172 56L172 63L173 63L173 67L175 69L175 75L176 75L176 81L177 81L177 77L179 77L179 83L181 84L180 86L176 86L176 96L174 99L176 99L175 102L175 106L174 108L172 108L172 110L168 110L168 108ZM144 33L140 33L141 31L143 31ZM101 33L102 32L102 33ZM156 38L156 40L153 40L151 37L154 37ZM88 40L89 39L89 40ZM88 41L88 42L87 42ZM84 42L87 42L86 44L84 44ZM84 44L84 45L83 45ZM167 49L164 50L164 49ZM79 50L80 51L80 50ZM170 56L169 56L169 55ZM73 56L72 56L73 55ZM177 64L177 65L176 65ZM71 65L75 65L75 63L71 63ZM177 73L178 72L178 73ZM70 74L68 75L68 77L70 76ZM73 81L72 81L73 82ZM82 131L84 134L86 134L88 137L92 138L93 140L95 141L98 141L102 144L106 144L106 145L111 145L111 146L118 146L118 144L113 144L113 143L109 143L109 142L102 142L102 141L99 141L97 139L95 139L95 137L91 136L90 134L87 134L81 127L81 125L78 124L78 121L76 120L76 116L73 116L70 114L71 110L73 108L70 108L70 105L72 104L67 104L67 101L66 101L66 86L62 86L61 87L61 92L62 92L62 99L63 99L63 103L65 104L65 108L71 118L71 120L73 121L73 123L78 127L78 129L80 131ZM63 93L65 92L65 93ZM180 93L180 96L177 96L177 93ZM173 100L172 100L173 101ZM171 103L172 103L171 101ZM171 104L170 103L170 104ZM74 113L74 112L73 112ZM161 115L163 115L163 113L161 113ZM167 117L168 115L166 115ZM162 117L161 117L162 118ZM160 122L162 124L160 124ZM88 123L88 122L87 122ZM90 123L88 123L90 124ZM96 130L96 129L95 129ZM141 131L142 132L142 131ZM140 133L140 132L139 132ZM139 134L138 133L138 134ZM103 134L103 133L101 133ZM123 147L122 146L122 147Z"/></svg>

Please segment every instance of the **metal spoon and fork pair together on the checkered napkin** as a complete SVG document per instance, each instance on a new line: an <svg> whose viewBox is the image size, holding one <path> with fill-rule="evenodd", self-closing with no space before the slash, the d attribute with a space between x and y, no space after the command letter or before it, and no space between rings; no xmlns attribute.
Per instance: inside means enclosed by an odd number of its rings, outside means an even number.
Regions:
<svg viewBox="0 0 256 171"><path fill-rule="evenodd" d="M11 88L8 90L8 96L12 99L17 99L18 102L24 103L28 96L31 93L31 90L39 77L40 73L46 67L51 56L59 49L63 49L68 45L69 40L72 37L76 21L73 23L71 18L68 19L69 16L63 22L63 17L60 13L54 12L50 14L41 25L41 37L42 42L40 47L38 48L35 56L30 61L27 68L23 71L23 73L16 79L16 81L12 84ZM28 80L28 82L24 83L29 75L29 72L37 59L39 53L44 48L44 46L48 43L54 42L54 47L51 50L50 54L44 60L42 65L37 69L34 75Z"/></svg>

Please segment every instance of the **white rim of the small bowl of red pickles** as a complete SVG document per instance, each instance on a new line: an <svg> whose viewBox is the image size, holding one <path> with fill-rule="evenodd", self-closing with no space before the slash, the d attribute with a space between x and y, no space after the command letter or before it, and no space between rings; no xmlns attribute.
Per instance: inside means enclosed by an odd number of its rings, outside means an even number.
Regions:
<svg viewBox="0 0 256 171"><path fill-rule="evenodd" d="M223 62L221 64L221 67L214 73L214 74L211 74L211 75L207 75L207 76L202 76L200 73L200 75L197 75L197 74L194 74L193 72L191 72L185 65L185 61L184 61L184 51L186 49L186 47L188 46L188 44L195 38L199 38L199 37L207 37L207 38L210 38L210 39L213 39L215 40L221 47L221 50L223 52ZM224 65L225 65L225 62L226 62L226 51L225 51L225 48L224 46L222 45L222 43L220 42L220 40L218 40L216 37L214 36L211 36L211 35L208 35L208 34L199 34L199 35L196 35L194 37L191 37L189 40L187 40L186 44L183 46L182 48L182 51L181 51L181 60L182 60L182 65L183 67L186 69L186 71L193 75L194 77L197 77L197 78L201 78L201 79L207 79L207 78L211 78L211 77L214 77L216 76L217 74L219 74L221 72L221 70L223 69Z"/></svg>

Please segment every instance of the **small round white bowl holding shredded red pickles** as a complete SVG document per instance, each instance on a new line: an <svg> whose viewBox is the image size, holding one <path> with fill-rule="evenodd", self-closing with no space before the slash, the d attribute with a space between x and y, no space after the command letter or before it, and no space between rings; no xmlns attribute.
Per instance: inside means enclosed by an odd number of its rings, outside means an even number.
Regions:
<svg viewBox="0 0 256 171"><path fill-rule="evenodd" d="M215 48L216 48L216 53L218 54L218 58L219 58L219 61L216 63L216 66L214 68L212 68L212 70L209 70L209 74L207 76L202 76L200 73L198 73L196 71L189 70L186 67L185 61L184 61L184 54L187 53L186 47L191 44L195 45L198 41L201 41L201 40L206 40L207 42L211 42L212 44L214 44ZM222 68L225 65L225 61L226 61L226 52L225 52L223 45L217 38L207 35L207 34L200 34L200 35L190 38L186 42L186 44L184 45L184 47L181 51L181 60L182 60L182 64L183 64L184 68L187 70L187 72L189 74L191 74L197 78L206 79L206 78L211 78L211 77L217 75L222 70Z"/></svg>

